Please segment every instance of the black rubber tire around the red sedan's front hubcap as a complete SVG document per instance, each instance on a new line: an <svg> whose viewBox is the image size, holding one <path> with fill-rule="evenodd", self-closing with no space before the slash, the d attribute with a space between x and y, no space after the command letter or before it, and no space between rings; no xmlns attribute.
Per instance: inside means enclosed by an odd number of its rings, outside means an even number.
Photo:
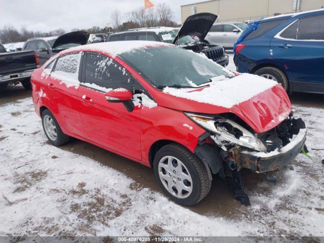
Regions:
<svg viewBox="0 0 324 243"><path fill-rule="evenodd" d="M181 160L181 162L188 169L192 178L192 192L186 198L178 198L171 194L161 182L158 172L159 161L165 156L174 156ZM162 188L165 194L167 194L175 203L192 206L197 204L200 200L207 196L211 189L211 179L208 176L207 168L200 161L198 157L191 153L187 148L171 143L160 148L153 161L153 169L158 184Z"/></svg>

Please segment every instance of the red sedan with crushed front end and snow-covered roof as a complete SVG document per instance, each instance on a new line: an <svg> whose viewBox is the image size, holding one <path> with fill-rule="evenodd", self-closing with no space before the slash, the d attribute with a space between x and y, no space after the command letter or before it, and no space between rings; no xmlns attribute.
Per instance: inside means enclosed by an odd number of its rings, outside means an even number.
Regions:
<svg viewBox="0 0 324 243"><path fill-rule="evenodd" d="M235 197L249 204L239 170L286 166L303 147L277 82L234 76L206 56L162 42L125 41L60 52L32 75L32 99L53 145L74 137L152 167L176 203L194 205L212 173L232 171Z"/></svg>

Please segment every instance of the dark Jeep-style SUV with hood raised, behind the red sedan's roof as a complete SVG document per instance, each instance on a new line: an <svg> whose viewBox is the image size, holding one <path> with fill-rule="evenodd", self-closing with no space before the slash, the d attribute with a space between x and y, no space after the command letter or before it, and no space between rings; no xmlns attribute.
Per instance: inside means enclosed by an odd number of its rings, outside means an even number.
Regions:
<svg viewBox="0 0 324 243"><path fill-rule="evenodd" d="M195 14L186 19L180 30L172 27L130 29L110 34L108 42L139 40L173 43L187 50L204 53L208 58L225 67L228 65L228 55L224 48L209 45L204 41L216 19L217 15L210 13Z"/></svg>

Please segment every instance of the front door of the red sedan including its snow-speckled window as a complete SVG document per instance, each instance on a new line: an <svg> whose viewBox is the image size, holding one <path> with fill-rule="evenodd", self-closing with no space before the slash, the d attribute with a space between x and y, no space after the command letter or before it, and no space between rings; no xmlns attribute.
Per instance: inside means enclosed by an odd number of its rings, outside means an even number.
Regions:
<svg viewBox="0 0 324 243"><path fill-rule="evenodd" d="M109 103L109 89L131 91L130 75L106 56L88 53L78 89L80 115L86 137L110 150L141 159L140 108L129 112L122 103Z"/></svg>

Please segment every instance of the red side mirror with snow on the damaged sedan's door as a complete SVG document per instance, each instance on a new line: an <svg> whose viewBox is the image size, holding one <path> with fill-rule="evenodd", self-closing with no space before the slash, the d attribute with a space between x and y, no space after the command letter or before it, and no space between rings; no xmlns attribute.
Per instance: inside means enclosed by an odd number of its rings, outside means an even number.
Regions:
<svg viewBox="0 0 324 243"><path fill-rule="evenodd" d="M105 94L105 97L108 102L123 103L129 112L133 111L135 108L135 105L132 101L132 93L124 88L110 90Z"/></svg>

